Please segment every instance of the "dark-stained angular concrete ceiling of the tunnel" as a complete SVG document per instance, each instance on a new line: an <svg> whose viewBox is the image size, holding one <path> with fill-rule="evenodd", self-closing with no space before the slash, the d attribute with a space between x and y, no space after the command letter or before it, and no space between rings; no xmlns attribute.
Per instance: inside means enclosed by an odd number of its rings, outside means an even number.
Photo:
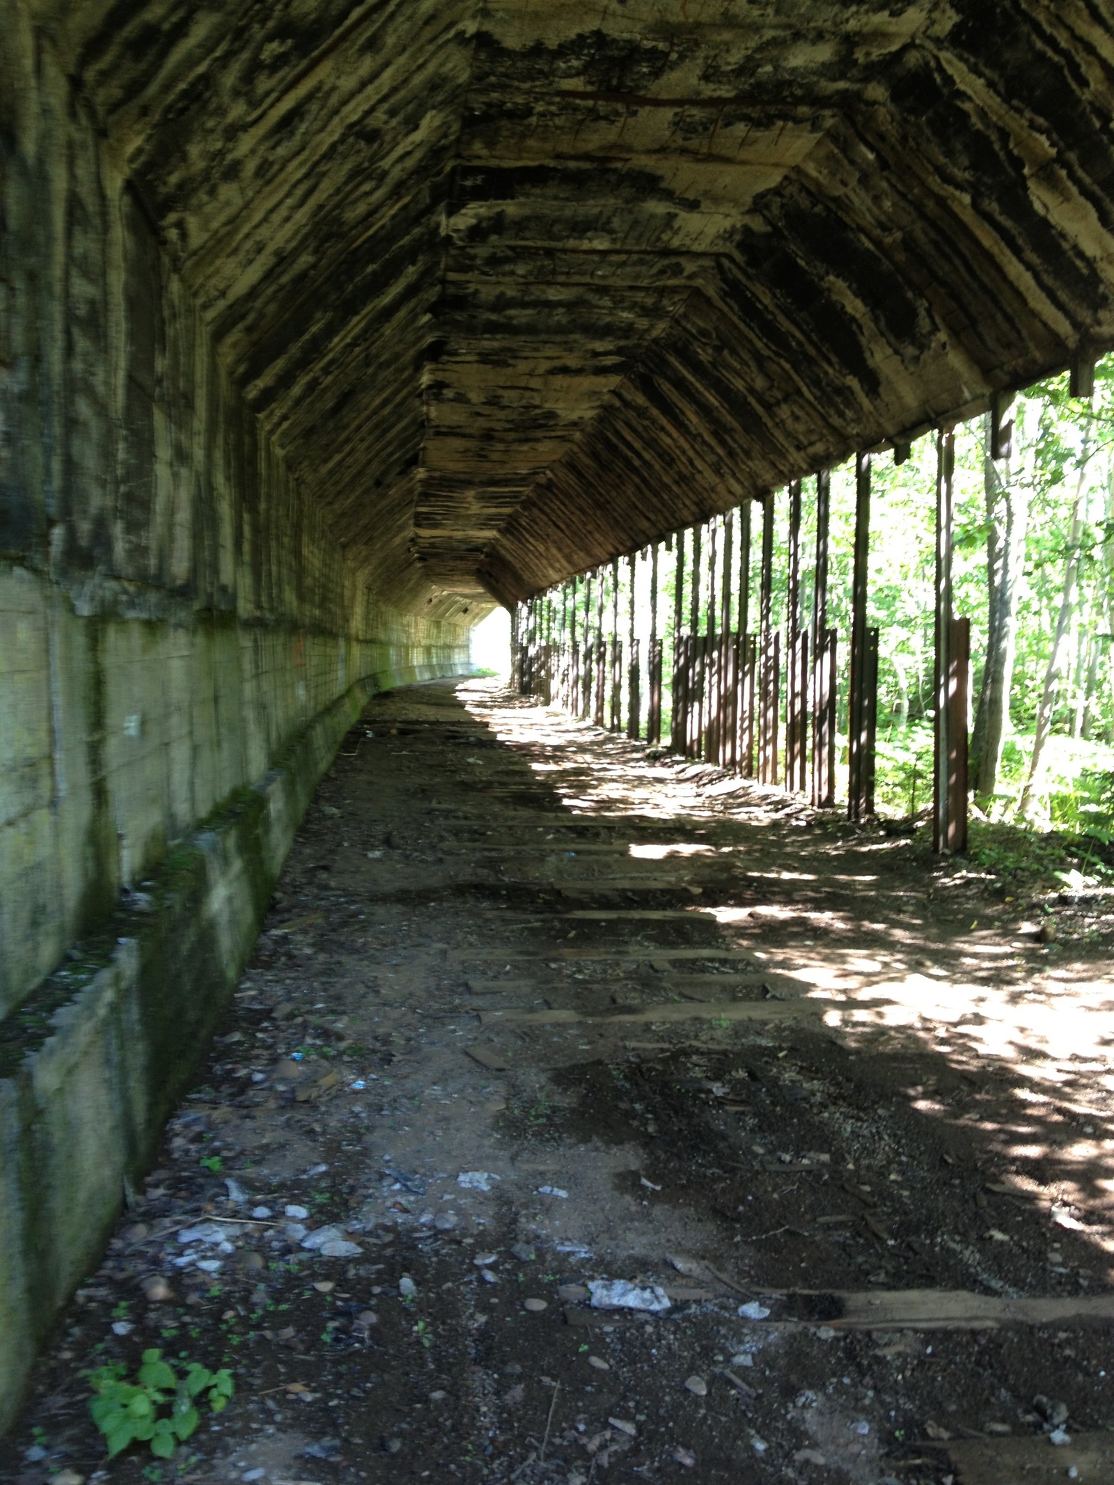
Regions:
<svg viewBox="0 0 1114 1485"><path fill-rule="evenodd" d="M1114 0L43 0L400 603L520 597L1114 343Z"/></svg>

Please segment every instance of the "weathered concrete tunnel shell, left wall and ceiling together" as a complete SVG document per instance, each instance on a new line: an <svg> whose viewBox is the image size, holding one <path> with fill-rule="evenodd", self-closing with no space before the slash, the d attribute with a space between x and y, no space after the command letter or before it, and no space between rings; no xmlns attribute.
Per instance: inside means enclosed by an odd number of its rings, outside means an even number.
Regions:
<svg viewBox="0 0 1114 1485"><path fill-rule="evenodd" d="M367 698L1086 383L1111 180L1108 0L7 0L0 1423Z"/></svg>

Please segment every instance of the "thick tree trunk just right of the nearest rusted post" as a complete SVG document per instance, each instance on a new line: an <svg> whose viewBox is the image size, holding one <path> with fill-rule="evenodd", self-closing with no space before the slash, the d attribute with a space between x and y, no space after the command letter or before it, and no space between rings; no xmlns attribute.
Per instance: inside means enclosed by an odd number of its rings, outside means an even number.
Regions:
<svg viewBox="0 0 1114 1485"><path fill-rule="evenodd" d="M971 734L971 777L986 809L998 781L1001 750L1010 725L1010 686L1017 653L1017 593L1025 566L1029 506L1023 490L1010 487L991 459L991 419L983 422L983 490L986 495L986 664Z"/></svg>

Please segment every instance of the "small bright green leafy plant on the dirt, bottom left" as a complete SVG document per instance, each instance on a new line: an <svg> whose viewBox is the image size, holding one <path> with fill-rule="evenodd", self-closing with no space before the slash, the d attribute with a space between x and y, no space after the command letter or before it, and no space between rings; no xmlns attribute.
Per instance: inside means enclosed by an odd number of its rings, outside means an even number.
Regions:
<svg viewBox="0 0 1114 1485"><path fill-rule="evenodd" d="M187 1362L184 1375L178 1377L159 1350L143 1353L134 1383L125 1381L126 1375L122 1362L89 1372L94 1390L89 1412L104 1435L110 1460L129 1443L150 1443L156 1458L172 1458L201 1423L198 1402L202 1394L212 1412L221 1412L236 1390L227 1368L211 1372L199 1362Z"/></svg>

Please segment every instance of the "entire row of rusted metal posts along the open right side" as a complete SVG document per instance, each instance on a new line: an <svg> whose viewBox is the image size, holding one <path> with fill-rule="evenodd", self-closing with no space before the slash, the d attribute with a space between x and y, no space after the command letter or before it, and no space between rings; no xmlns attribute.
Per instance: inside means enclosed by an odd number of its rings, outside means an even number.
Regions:
<svg viewBox="0 0 1114 1485"><path fill-rule="evenodd" d="M995 422L997 428L997 422ZM908 450L899 450L899 457ZM967 846L967 705L970 621L952 612L954 434L939 435L936 489L936 711L933 839L937 851ZM619 561L573 578L560 590L518 604L511 615L511 685L630 738L661 742L664 643L659 634L659 554L676 542L670 748L704 759L762 784L807 794L817 808L835 805L838 634L827 622L830 474L815 477L812 612L801 601L802 481L789 486L786 643L774 625L774 497L762 512L758 630L750 624L752 503L709 527L677 532L649 548L649 640L636 634L636 555L628 563L627 639L621 637ZM738 588L732 594L735 521ZM686 542L688 535L688 542ZM870 545L870 454L856 459L856 520L851 576L848 680L850 820L873 814L878 726L878 630L867 624ZM688 548L688 549L686 549ZM689 604L685 612L685 573ZM732 627L732 600L735 625ZM701 630L707 615L707 633ZM578 633L579 622L579 633ZM625 664L624 664L625 661ZM780 769L781 673L784 771ZM645 707L645 722L643 722ZM781 777L778 777L781 774Z"/></svg>

